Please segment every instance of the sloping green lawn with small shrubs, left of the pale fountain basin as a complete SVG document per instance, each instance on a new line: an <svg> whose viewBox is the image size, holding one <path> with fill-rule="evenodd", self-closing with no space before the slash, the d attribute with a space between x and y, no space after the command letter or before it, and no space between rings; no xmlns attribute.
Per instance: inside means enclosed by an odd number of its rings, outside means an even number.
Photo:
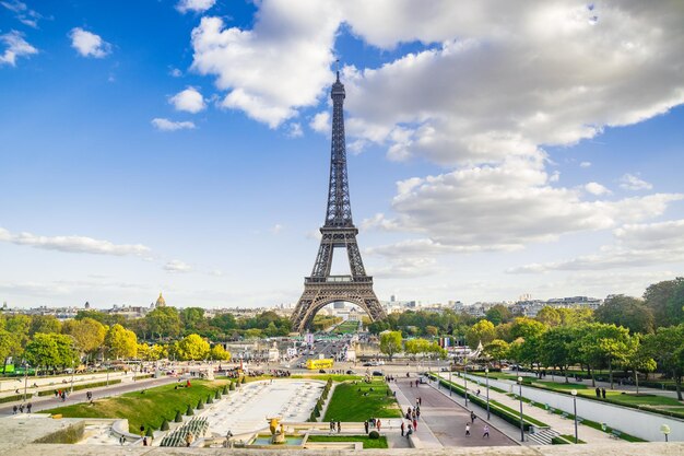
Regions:
<svg viewBox="0 0 684 456"><path fill-rule="evenodd" d="M175 384L164 385L146 389L144 394L132 391L96 400L94 405L74 404L46 412L61 413L64 418L127 418L131 432L139 432L141 425L160 429L164 418L174 421L177 410L185 414L188 405L197 407L200 398L205 402L211 394L213 399L216 389L223 389L226 383L196 379L191 381L190 388L174 389Z"/></svg>

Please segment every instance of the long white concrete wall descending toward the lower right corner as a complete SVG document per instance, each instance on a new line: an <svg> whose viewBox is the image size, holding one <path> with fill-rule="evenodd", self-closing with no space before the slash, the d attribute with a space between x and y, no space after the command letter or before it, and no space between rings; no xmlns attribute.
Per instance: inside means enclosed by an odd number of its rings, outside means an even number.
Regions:
<svg viewBox="0 0 684 456"><path fill-rule="evenodd" d="M484 378L468 375L469 381L477 381L484 385ZM515 390L511 389L515 385ZM490 378L490 386L494 386L505 391L518 393L517 384L510 381L497 381ZM544 389L522 386L522 397L539 404L549 404L549 407L573 413L573 397L561 393L546 391ZM606 423L609 428L635 435L651 442L664 441L660 432L662 424L670 426L670 441L684 442L684 420L670 418L658 413L632 409L628 407L615 406L606 402L599 402L591 399L577 398L577 416Z"/></svg>

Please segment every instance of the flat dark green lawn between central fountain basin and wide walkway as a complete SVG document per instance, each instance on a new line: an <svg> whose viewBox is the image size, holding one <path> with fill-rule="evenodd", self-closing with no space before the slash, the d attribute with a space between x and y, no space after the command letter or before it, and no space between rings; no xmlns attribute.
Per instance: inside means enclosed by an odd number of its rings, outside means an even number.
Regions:
<svg viewBox="0 0 684 456"><path fill-rule="evenodd" d="M357 382L356 385L351 382L341 383L334 388L322 421L365 421L372 417L401 417L397 400L391 393L387 396L387 391L389 387L384 381L374 381L370 384ZM368 395L364 396L365 393Z"/></svg>

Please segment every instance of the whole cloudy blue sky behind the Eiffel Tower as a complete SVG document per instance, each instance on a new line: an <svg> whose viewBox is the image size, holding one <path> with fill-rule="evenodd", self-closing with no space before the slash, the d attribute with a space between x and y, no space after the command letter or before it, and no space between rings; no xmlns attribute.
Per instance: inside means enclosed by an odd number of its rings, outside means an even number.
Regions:
<svg viewBox="0 0 684 456"><path fill-rule="evenodd" d="M469 3L3 0L0 301L296 302L337 58L380 300L681 276L684 12Z"/></svg>

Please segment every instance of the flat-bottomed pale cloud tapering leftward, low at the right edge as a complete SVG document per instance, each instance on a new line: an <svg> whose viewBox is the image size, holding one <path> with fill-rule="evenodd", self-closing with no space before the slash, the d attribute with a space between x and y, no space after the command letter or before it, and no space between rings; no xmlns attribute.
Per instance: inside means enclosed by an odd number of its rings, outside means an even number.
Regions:
<svg viewBox="0 0 684 456"><path fill-rule="evenodd" d="M558 270L608 270L684 261L684 220L626 224L613 231L614 243L593 255L566 261L531 264L508 270L540 273Z"/></svg>

